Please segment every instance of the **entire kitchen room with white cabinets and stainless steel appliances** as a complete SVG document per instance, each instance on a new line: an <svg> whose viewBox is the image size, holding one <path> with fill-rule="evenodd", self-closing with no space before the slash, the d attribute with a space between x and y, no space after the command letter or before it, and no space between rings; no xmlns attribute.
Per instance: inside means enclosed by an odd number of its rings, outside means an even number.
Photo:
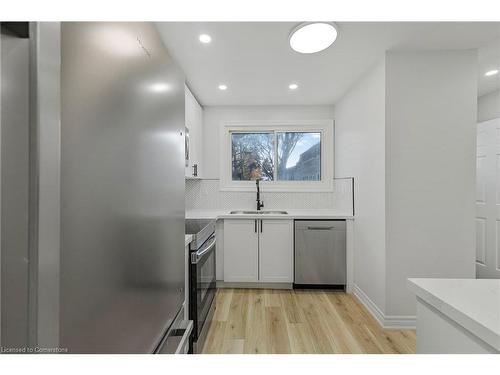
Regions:
<svg viewBox="0 0 500 375"><path fill-rule="evenodd" d="M499 22L0 47L2 352L500 352Z"/></svg>

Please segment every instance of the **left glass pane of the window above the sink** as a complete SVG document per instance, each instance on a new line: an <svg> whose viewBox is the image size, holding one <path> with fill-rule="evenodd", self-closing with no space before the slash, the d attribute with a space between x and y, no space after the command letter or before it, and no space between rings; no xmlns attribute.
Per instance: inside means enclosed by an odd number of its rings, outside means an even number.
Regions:
<svg viewBox="0 0 500 375"><path fill-rule="evenodd" d="M231 133L233 181L274 179L274 134Z"/></svg>

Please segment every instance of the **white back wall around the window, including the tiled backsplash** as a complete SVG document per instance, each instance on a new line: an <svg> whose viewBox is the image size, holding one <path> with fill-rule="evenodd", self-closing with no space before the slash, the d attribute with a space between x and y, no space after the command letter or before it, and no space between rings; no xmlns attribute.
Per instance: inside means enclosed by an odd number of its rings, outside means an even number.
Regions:
<svg viewBox="0 0 500 375"><path fill-rule="evenodd" d="M240 208L255 204L254 192L222 192L219 188L221 124L238 121L331 120L333 106L206 106L203 108L203 179L186 181L186 209ZM346 176L350 177L350 176ZM350 180L336 180L331 192L262 192L267 208L337 209L352 212Z"/></svg>

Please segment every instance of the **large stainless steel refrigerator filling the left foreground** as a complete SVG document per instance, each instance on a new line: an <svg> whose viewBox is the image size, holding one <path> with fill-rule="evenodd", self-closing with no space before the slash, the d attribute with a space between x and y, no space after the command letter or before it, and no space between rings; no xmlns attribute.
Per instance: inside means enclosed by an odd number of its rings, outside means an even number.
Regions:
<svg viewBox="0 0 500 375"><path fill-rule="evenodd" d="M152 23L30 27L23 337L153 353L184 301L183 73Z"/></svg>

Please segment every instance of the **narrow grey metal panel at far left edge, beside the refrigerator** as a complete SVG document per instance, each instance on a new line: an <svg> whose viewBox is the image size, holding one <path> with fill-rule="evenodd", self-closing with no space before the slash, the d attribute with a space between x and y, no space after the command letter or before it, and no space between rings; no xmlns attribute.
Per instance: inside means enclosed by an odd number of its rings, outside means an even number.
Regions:
<svg viewBox="0 0 500 375"><path fill-rule="evenodd" d="M0 276L2 348L28 345L29 65L27 23L2 22L0 39Z"/></svg>

